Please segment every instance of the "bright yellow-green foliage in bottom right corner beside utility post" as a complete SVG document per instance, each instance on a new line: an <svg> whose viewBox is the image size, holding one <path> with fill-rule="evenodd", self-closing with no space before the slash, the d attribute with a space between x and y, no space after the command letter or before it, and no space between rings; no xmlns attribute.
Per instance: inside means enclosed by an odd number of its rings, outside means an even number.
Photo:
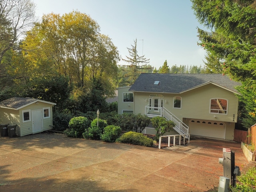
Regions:
<svg viewBox="0 0 256 192"><path fill-rule="evenodd" d="M237 176L236 186L231 187L231 192L256 191L256 167L250 168L246 174Z"/></svg>

